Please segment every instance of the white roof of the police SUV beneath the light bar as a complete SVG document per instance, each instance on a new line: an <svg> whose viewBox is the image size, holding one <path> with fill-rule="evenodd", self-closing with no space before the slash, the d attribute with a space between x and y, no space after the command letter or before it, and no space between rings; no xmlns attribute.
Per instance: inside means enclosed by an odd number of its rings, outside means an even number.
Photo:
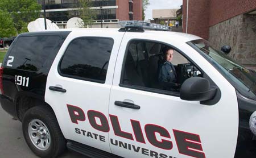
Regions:
<svg viewBox="0 0 256 158"><path fill-rule="evenodd" d="M28 32L22 35L43 35L43 34L61 34L61 32L94 32L101 31L102 35L111 34L112 32L117 32L119 28L64 28L56 31L46 30L42 32ZM172 38L175 40L187 42L191 40L201 39L199 36L185 34L181 32L172 32L172 31L152 31L152 30L144 30L144 32L126 32L127 34L138 34L139 37L143 37L143 34L153 35L153 36L161 36L166 38Z"/></svg>

